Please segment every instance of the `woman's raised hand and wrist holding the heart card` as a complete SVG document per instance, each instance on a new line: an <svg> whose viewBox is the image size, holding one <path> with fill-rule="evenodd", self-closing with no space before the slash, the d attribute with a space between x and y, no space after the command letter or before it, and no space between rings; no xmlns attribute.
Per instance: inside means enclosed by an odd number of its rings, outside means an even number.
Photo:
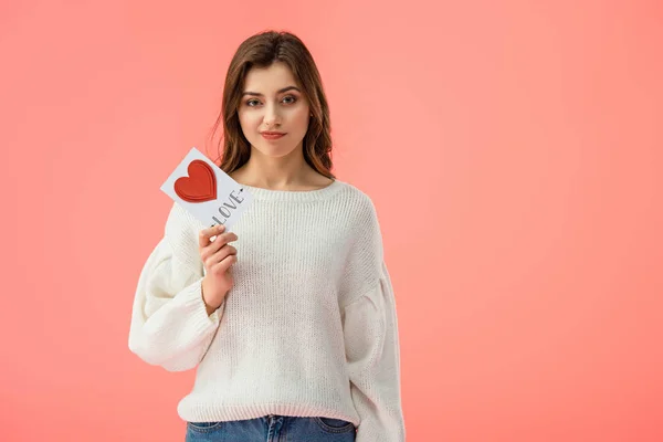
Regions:
<svg viewBox="0 0 663 442"><path fill-rule="evenodd" d="M198 236L198 250L207 274L202 280L202 301L211 315L221 306L234 281L230 266L238 261L238 250L229 244L236 241L238 235L223 233L224 225L203 229ZM211 236L217 236L210 241Z"/></svg>

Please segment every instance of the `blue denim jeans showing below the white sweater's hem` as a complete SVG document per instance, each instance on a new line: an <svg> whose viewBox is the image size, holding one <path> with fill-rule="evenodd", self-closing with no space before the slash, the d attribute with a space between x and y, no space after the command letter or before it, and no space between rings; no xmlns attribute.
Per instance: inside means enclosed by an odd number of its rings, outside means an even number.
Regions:
<svg viewBox="0 0 663 442"><path fill-rule="evenodd" d="M227 422L187 422L186 442L352 442L351 422L270 414Z"/></svg>

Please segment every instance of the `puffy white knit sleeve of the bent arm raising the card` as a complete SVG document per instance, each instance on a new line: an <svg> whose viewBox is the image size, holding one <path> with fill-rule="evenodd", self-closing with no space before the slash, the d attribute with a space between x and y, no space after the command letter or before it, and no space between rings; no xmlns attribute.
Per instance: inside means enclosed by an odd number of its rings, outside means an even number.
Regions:
<svg viewBox="0 0 663 442"><path fill-rule="evenodd" d="M201 361L225 306L224 302L207 314L197 241L191 219L173 204L165 234L143 266L134 297L129 349L168 371L189 370Z"/></svg>

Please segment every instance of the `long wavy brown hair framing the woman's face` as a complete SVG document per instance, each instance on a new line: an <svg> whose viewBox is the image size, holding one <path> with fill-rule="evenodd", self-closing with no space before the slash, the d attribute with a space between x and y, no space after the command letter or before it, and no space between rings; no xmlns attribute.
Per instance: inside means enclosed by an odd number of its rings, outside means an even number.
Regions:
<svg viewBox="0 0 663 442"><path fill-rule="evenodd" d="M303 140L304 159L317 172L335 179L332 173L332 136L329 106L317 66L302 40L290 32L265 31L250 36L235 52L223 86L221 113L211 129L210 139L223 124L219 141L220 168L230 173L251 157L251 144L240 126L238 106L242 98L244 80L251 67L269 67L283 62L290 66L297 86L308 99L313 116Z"/></svg>

